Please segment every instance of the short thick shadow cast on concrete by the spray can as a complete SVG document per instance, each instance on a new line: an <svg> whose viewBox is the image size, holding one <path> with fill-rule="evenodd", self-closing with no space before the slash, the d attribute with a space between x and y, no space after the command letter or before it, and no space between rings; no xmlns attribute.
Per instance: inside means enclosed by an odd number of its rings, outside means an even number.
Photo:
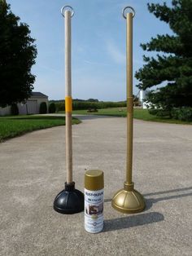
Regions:
<svg viewBox="0 0 192 256"><path fill-rule="evenodd" d="M148 214L131 215L124 218L107 219L104 222L103 232L111 232L129 227L143 226L151 223L159 223L164 220L164 215L157 212Z"/></svg>

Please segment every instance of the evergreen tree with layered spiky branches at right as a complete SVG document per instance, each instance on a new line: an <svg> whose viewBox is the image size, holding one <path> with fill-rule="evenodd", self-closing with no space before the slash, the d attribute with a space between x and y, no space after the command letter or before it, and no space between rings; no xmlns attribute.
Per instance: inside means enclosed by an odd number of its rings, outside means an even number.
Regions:
<svg viewBox="0 0 192 256"><path fill-rule="evenodd" d="M143 56L146 64L135 77L137 85L151 90L148 100L168 111L172 108L192 106L192 1L172 0L172 7L148 4L148 10L159 20L169 24L173 35L157 35L151 42L141 44L144 51L157 51L156 58Z"/></svg>

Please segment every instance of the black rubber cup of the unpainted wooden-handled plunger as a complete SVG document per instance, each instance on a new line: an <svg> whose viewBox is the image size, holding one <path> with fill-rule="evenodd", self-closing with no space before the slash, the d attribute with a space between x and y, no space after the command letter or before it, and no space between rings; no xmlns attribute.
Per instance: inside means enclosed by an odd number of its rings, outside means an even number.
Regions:
<svg viewBox="0 0 192 256"><path fill-rule="evenodd" d="M77 214L84 210L84 194L75 183L65 183L65 189L55 197L54 209L60 214Z"/></svg>

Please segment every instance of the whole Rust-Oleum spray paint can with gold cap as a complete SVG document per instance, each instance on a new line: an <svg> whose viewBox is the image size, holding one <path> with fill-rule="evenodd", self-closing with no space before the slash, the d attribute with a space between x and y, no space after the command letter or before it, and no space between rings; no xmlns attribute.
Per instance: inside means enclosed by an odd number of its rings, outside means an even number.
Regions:
<svg viewBox="0 0 192 256"><path fill-rule="evenodd" d="M85 231L103 230L104 179L102 170L85 172Z"/></svg>

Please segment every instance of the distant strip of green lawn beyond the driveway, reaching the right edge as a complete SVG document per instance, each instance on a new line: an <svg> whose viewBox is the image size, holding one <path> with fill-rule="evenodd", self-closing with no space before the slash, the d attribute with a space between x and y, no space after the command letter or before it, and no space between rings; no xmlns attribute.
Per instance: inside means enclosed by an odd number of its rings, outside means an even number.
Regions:
<svg viewBox="0 0 192 256"><path fill-rule="evenodd" d="M59 112L64 113L64 112ZM86 115L105 115L105 116L114 116L114 117L126 117L126 108L103 108L98 109L97 113L87 113L87 110L75 110L73 114L86 114ZM151 115L147 109L134 108L133 118L141 119L144 121L159 121L167 122L173 124L192 124L192 121L179 121L175 119L170 119L168 117L155 117Z"/></svg>

